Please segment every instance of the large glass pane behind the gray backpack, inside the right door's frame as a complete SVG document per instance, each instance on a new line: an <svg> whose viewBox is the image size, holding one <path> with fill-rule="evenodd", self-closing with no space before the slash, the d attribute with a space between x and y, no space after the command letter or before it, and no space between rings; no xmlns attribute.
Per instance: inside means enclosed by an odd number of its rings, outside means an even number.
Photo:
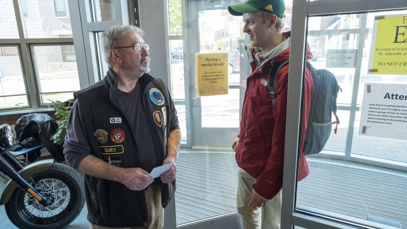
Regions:
<svg viewBox="0 0 407 229"><path fill-rule="evenodd" d="M380 68L369 67L369 62L373 56L376 58L376 54L380 55L376 53L380 48L387 50L383 53L393 55L392 61L383 62L386 65L405 62L403 52L395 51L403 50L404 47L394 45L397 32L393 25L400 23L402 26L406 13L405 10L381 11L308 18L307 43L314 54L311 64L316 69L331 71L341 87L337 99L340 125L336 133L331 131L322 153L306 156L310 171L304 180L298 182L296 211L368 226L381 223L381 228L386 225L397 225L399 228L407 225L407 213L404 211L407 206L404 201L404 190L407 188L407 140L403 135L396 138L386 132L389 128L394 128L394 132L404 132L405 117L387 119L387 126L385 122L373 124L386 120L382 117L389 117L380 113L396 115L396 112L402 110L389 105L390 99L375 99L374 104L364 104L364 97L374 94L381 96L382 92L370 88L380 86L390 93L392 90L405 89L405 71L387 70L376 74L372 69ZM380 33L383 33L384 26L380 30L376 26L384 23L383 19L386 19L385 27L391 30L387 33L391 38L386 42L374 43L374 39L377 41L381 37ZM395 22L392 24L389 20ZM398 107L405 107L400 100L397 104ZM370 135L360 128L366 127L366 124L363 125L364 118L375 113L366 113L364 109L367 107L381 110L372 115L373 121L368 121L371 123L368 128L382 125L379 126L381 129L374 134L369 132Z"/></svg>

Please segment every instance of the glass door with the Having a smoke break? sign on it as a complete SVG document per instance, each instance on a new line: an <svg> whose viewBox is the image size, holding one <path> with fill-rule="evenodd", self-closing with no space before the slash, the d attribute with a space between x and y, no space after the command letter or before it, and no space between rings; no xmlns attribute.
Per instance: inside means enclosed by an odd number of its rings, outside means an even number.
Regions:
<svg viewBox="0 0 407 229"><path fill-rule="evenodd" d="M229 5L237 4L235 2L187 1L189 27L187 46L183 51L187 53L189 62L192 138L195 146L230 147L239 134L240 111L248 74L240 67L246 58L242 17L232 16L227 11ZM198 95L197 88L201 81L197 82L196 76L197 53L226 53L228 58L224 66L227 66L227 70L222 72L223 77L227 78L226 94ZM248 64L245 66L248 67ZM219 80L211 80L210 87L218 87L219 83Z"/></svg>

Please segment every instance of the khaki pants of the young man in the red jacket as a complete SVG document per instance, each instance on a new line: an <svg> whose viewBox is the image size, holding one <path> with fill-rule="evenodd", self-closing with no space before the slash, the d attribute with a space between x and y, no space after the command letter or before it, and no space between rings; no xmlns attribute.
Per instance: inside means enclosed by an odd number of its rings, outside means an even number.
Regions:
<svg viewBox="0 0 407 229"><path fill-rule="evenodd" d="M242 168L238 169L237 208L241 215L243 229L279 229L281 222L281 190L266 207L249 208L249 196L256 182Z"/></svg>

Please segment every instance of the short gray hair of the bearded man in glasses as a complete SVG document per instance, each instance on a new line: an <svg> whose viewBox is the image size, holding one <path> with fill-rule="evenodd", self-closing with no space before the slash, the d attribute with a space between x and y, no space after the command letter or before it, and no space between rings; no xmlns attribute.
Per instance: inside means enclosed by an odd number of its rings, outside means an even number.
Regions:
<svg viewBox="0 0 407 229"><path fill-rule="evenodd" d="M109 50L111 48L119 47L120 39L123 35L129 32L136 32L140 37L144 37L144 32L141 28L134 25L113 25L105 30L100 38L100 48L102 50L104 60L110 66Z"/></svg>

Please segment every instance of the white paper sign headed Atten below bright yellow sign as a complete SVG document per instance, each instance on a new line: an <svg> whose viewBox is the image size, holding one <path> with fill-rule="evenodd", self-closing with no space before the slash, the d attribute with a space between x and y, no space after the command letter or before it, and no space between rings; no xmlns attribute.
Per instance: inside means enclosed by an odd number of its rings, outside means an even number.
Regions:
<svg viewBox="0 0 407 229"><path fill-rule="evenodd" d="M359 135L407 140L407 84L366 83Z"/></svg>

